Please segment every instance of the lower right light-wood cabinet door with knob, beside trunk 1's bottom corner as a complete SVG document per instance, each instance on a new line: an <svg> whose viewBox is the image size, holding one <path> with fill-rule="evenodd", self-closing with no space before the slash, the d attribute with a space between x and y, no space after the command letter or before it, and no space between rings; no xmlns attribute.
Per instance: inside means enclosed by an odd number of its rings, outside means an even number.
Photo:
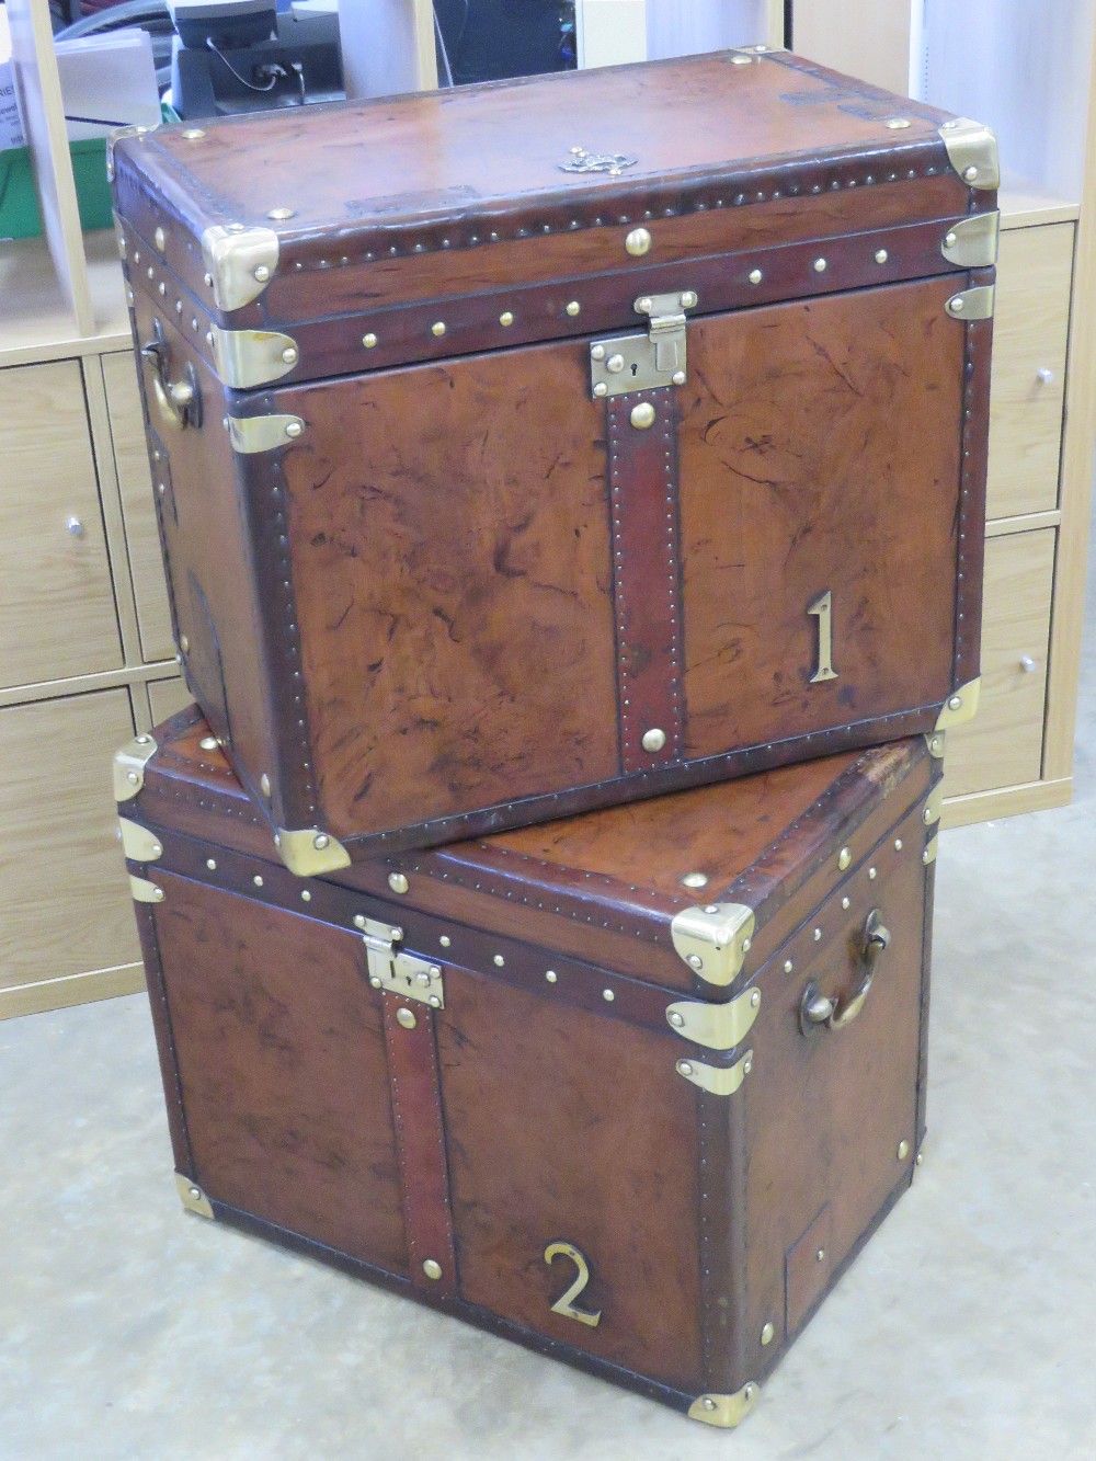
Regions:
<svg viewBox="0 0 1096 1461"><path fill-rule="evenodd" d="M1042 774L1054 527L985 545L982 698L947 735L947 795L1035 782Z"/></svg>

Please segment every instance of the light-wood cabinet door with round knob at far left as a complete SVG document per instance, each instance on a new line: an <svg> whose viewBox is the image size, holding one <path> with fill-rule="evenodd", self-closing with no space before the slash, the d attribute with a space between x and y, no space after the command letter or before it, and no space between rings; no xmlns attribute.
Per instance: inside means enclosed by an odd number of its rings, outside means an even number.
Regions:
<svg viewBox="0 0 1096 1461"><path fill-rule="evenodd" d="M0 371L0 685L121 666L77 361Z"/></svg>

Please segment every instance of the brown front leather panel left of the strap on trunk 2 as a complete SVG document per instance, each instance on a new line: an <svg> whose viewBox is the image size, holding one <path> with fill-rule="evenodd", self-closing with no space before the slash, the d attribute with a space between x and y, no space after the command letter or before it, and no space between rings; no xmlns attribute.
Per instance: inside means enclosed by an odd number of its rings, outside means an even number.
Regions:
<svg viewBox="0 0 1096 1461"><path fill-rule="evenodd" d="M406 1273L381 1005L361 938L149 877L165 890L156 935L189 1175L216 1201Z"/></svg>

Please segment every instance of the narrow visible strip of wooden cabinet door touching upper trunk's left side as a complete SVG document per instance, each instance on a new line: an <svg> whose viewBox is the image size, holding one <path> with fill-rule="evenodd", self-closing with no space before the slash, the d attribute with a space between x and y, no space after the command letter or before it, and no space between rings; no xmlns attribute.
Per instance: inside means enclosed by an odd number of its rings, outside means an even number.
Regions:
<svg viewBox="0 0 1096 1461"><path fill-rule="evenodd" d="M114 463L118 472L126 543L137 600L140 652L146 660L171 659L171 614L164 561L156 530L153 484L145 446L145 418L137 387L137 367L129 351L102 356L107 409L111 418Z"/></svg>

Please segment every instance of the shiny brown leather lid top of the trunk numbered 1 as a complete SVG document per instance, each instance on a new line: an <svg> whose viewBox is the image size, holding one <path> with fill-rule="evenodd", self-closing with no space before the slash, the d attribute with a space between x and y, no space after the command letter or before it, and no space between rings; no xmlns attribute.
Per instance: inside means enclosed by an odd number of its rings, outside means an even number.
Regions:
<svg viewBox="0 0 1096 1461"><path fill-rule="evenodd" d="M896 114L910 121L902 133L886 127ZM314 311L319 281L393 251L615 229L814 188L919 187L950 172L943 120L785 53L748 66L715 54L316 108L304 120L224 118L200 139L181 129L123 139L115 199L129 218L155 197L162 221L193 235L209 224L273 222L292 281L279 308L301 300ZM596 149L595 136L628 149L634 165L618 177L561 171L571 148ZM286 206L291 219L267 218ZM205 298L202 260L175 232L168 259Z"/></svg>

